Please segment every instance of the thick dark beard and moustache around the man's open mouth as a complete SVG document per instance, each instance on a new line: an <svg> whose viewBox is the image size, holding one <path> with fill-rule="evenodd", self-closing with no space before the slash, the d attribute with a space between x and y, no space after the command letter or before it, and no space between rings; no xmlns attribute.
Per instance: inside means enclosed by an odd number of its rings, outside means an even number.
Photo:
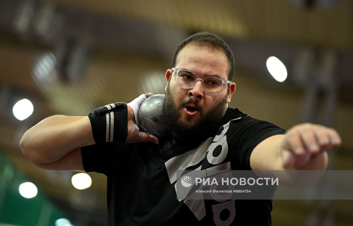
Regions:
<svg viewBox="0 0 353 226"><path fill-rule="evenodd" d="M216 134L225 114L227 95L219 104L213 109L210 109L206 114L204 114L203 108L199 105L197 99L190 97L188 100L185 100L176 106L173 97L174 95L170 91L168 85L167 94L164 97L163 102L163 117L166 121L169 135L172 135L174 141L199 142ZM180 120L181 115L179 114L179 109L187 104L194 104L196 108L199 109L198 114L201 115L199 120L191 126L189 124L184 124Z"/></svg>

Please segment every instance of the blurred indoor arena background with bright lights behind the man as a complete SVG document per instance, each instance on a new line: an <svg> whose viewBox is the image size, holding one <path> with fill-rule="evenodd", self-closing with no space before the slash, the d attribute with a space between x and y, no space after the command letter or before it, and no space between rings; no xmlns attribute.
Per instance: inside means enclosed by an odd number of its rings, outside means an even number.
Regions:
<svg viewBox="0 0 353 226"><path fill-rule="evenodd" d="M329 169L352 170L352 10L351 0L2 0L0 226L107 225L104 175L42 170L19 140L50 115L164 94L174 49L198 31L234 53L230 107L284 129L336 128ZM275 226L353 222L352 200L273 204Z"/></svg>

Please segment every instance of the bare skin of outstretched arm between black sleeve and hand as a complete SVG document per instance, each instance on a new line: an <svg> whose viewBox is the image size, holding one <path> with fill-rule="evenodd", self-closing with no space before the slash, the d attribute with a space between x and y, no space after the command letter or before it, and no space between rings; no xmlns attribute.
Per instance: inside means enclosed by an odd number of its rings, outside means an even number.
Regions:
<svg viewBox="0 0 353 226"><path fill-rule="evenodd" d="M283 170L280 144L284 134L277 134L261 141L250 155L252 170Z"/></svg>

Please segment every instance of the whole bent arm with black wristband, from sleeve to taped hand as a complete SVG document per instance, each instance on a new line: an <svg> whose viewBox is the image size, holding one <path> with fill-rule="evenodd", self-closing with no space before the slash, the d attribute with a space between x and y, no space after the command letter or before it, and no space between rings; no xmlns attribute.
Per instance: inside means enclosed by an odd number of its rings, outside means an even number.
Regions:
<svg viewBox="0 0 353 226"><path fill-rule="evenodd" d="M117 139L116 141L155 142L157 144L158 139L155 136L140 132L134 122L134 111L137 112L138 106L150 95L152 93L146 93L130 102L129 104L133 105L135 110L130 105L126 108L125 104L119 104L122 106L119 109L114 104L114 108L113 105L109 105L110 109L107 105L98 108L94 114L89 115L92 121L88 116L54 115L47 117L24 133L20 140L22 152L32 163L43 169L83 171L81 147L94 145L96 143L94 137L97 142L107 142L105 124L108 123L106 122L107 112L110 114L115 112L118 116L115 120L112 117L109 122L114 125L109 126L110 139L113 137ZM124 115L127 115L127 122L124 121ZM91 124L92 122L94 124ZM92 128L94 128L94 133ZM120 136L125 133L127 137L121 138ZM115 137L115 134L118 135ZM100 139L102 137L103 139Z"/></svg>

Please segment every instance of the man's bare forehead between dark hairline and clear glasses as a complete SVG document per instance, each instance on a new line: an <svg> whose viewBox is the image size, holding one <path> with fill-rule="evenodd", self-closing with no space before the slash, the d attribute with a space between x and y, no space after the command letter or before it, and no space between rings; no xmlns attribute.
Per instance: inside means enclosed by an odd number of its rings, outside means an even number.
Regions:
<svg viewBox="0 0 353 226"><path fill-rule="evenodd" d="M230 70L224 51L190 44L180 50L175 67L187 69L200 76L218 75L223 79L228 78Z"/></svg>

